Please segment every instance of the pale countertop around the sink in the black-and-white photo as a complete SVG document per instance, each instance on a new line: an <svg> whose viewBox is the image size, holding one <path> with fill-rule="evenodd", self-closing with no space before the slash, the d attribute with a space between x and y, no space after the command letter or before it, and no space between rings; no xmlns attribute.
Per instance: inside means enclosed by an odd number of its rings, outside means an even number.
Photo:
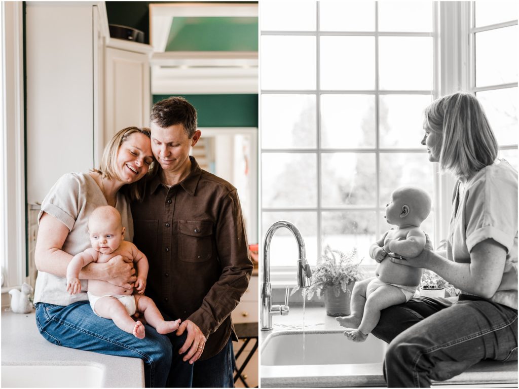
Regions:
<svg viewBox="0 0 519 389"><path fill-rule="evenodd" d="M261 350L263 350L265 340L270 334L280 331L301 331L303 329L303 321L305 323L305 331L337 332L342 330L335 317L326 315L324 306L320 307L313 304L310 307L306 307L303 314L303 307L295 305L290 307L290 313L286 316L272 316L272 330L260 331ZM385 386L381 363L340 366L345 369L338 374L325 372L324 370L326 369L323 369L322 366L319 367L319 365L260 366L262 386ZM350 367L350 369L346 367ZM319 369L323 371L322 375L319 374ZM295 376L293 376L292 372L295 373ZM517 382L517 362L484 361L459 374L459 376L438 384L471 385L485 383L503 386L503 383L510 382ZM516 384L515 387L517 387Z"/></svg>

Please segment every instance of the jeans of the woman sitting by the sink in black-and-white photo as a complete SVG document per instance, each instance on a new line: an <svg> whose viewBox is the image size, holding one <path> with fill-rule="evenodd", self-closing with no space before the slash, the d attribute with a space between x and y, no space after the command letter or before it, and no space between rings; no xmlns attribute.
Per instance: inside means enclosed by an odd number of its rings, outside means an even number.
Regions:
<svg viewBox="0 0 519 389"><path fill-rule="evenodd" d="M413 298L381 312L388 387L429 387L483 359L517 360L517 311L472 296Z"/></svg>

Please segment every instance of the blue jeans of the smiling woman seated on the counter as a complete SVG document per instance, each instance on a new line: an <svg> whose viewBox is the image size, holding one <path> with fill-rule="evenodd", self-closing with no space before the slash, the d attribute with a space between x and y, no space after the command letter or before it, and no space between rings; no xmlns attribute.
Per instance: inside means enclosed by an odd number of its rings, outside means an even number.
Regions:
<svg viewBox="0 0 519 389"><path fill-rule="evenodd" d="M110 319L95 315L88 301L66 306L38 302L36 324L45 339L59 346L141 358L144 362L146 387L166 386L172 358L173 363L175 359L181 359L177 350L185 341L185 337L178 337L172 348L167 336L158 334L148 325L146 337L138 339L119 329ZM175 364L179 379L189 374L186 369L183 370L186 365L188 364Z"/></svg>

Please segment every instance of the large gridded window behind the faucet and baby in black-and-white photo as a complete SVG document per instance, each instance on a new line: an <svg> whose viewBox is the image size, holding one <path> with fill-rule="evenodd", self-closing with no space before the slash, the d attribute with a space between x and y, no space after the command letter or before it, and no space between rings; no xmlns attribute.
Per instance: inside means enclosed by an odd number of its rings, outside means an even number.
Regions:
<svg viewBox="0 0 519 389"><path fill-rule="evenodd" d="M435 93L433 2L262 2L261 230L301 231L316 265L326 245L359 251L388 229L393 189L434 189L420 145ZM338 17L340 16L340 18ZM434 209L423 225L433 231ZM270 266L295 283L297 246L280 229ZM275 277L273 277L275 280Z"/></svg>

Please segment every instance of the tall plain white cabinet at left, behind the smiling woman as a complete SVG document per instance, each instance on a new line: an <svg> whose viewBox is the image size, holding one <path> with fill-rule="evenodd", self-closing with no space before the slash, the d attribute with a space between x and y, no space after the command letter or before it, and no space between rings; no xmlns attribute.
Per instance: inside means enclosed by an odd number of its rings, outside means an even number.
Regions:
<svg viewBox="0 0 519 389"><path fill-rule="evenodd" d="M94 166L102 132L102 2L27 2L25 22L28 202L67 172Z"/></svg>

